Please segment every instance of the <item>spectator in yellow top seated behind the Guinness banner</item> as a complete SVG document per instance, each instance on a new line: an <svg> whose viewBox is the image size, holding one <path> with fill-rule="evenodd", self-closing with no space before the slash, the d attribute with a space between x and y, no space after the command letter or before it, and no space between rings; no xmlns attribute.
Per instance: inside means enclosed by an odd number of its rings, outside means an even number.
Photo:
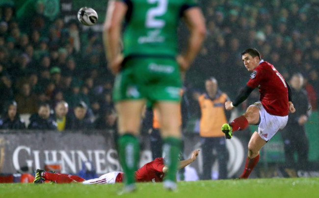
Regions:
<svg viewBox="0 0 319 198"><path fill-rule="evenodd" d="M69 111L69 105L65 101L60 101L54 108L54 116L57 123L57 130L63 131L69 119L67 113Z"/></svg>

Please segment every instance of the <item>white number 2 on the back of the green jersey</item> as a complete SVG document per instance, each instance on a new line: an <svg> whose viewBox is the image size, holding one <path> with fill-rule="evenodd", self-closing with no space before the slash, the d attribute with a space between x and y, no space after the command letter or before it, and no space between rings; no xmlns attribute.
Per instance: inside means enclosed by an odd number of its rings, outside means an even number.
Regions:
<svg viewBox="0 0 319 198"><path fill-rule="evenodd" d="M151 4L158 2L158 6L147 11L145 26L148 28L162 28L165 25L165 21L155 19L155 17L160 17L166 13L168 0L147 0L147 2Z"/></svg>

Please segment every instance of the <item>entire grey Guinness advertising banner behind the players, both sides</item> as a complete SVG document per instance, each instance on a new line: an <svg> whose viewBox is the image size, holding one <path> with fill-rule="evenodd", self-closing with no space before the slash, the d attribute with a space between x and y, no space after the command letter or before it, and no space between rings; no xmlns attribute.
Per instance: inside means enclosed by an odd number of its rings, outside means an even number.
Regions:
<svg viewBox="0 0 319 198"><path fill-rule="evenodd" d="M247 149L243 147L241 138L227 142L230 151L228 176L233 177L242 169ZM201 149L198 135L185 139L185 157L189 158L194 149ZM152 161L149 144L141 151L140 167ZM1 131L0 155L1 174L32 172L44 169L46 162L61 164L61 173L78 173L82 170L82 162L91 161L96 173L101 175L111 171L121 171L114 135L108 131L56 132L56 131ZM217 153L215 153L216 155ZM190 166L202 173L203 156ZM85 164L85 163L84 163ZM213 165L213 173L217 173L217 162ZM86 167L87 170L91 167Z"/></svg>

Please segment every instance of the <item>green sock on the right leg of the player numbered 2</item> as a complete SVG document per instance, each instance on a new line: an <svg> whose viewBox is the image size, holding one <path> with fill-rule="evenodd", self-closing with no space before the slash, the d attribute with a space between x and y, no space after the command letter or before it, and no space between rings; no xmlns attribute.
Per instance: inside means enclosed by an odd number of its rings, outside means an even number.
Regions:
<svg viewBox="0 0 319 198"><path fill-rule="evenodd" d="M178 154L181 151L182 140L168 137L163 140L164 164L168 168L165 180L176 181L176 173L179 166Z"/></svg>

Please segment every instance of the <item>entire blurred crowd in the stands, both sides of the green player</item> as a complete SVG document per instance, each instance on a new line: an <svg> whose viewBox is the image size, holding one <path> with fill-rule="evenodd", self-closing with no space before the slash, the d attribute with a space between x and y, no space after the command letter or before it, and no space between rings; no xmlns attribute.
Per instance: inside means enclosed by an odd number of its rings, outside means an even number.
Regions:
<svg viewBox="0 0 319 198"><path fill-rule="evenodd" d="M42 1L33 6L34 11L20 15L14 4L0 7L0 127L13 126L21 122L19 114L28 114L29 124L22 124L27 128L114 129L113 77L102 34L84 32L78 21L46 17ZM312 108L317 108L318 1L203 0L201 7L208 32L186 76L190 100L193 92L204 91L203 79L209 76L234 98L249 75L240 52L254 47L287 80L302 74ZM185 34L183 27L180 33Z"/></svg>

